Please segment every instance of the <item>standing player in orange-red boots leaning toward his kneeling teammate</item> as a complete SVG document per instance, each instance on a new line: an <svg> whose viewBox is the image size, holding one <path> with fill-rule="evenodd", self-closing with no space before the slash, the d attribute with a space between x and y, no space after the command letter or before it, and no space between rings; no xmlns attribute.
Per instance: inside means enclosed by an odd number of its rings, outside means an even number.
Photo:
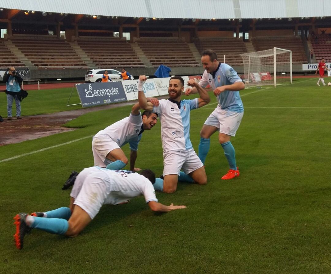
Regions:
<svg viewBox="0 0 331 274"><path fill-rule="evenodd" d="M228 173L221 179L233 179L238 177L240 173L236 164L235 150L230 139L231 136L236 135L244 115L239 90L244 89L245 84L233 68L217 61L217 55L213 50L208 49L202 53L201 63L205 72L199 85L205 87L210 84L217 97L218 105L201 129L199 158L205 163L210 147L210 137L218 131L219 143L230 166ZM188 88L185 94L189 95L191 92L195 93L196 88Z"/></svg>

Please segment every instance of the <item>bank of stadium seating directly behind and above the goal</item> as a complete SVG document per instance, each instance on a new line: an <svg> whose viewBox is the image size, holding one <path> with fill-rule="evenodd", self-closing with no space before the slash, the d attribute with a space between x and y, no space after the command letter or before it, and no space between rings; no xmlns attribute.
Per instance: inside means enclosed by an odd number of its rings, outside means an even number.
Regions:
<svg viewBox="0 0 331 274"><path fill-rule="evenodd" d="M292 50L292 63L307 63L305 48L300 37L257 37L252 38L252 43L256 51L273 47Z"/></svg>

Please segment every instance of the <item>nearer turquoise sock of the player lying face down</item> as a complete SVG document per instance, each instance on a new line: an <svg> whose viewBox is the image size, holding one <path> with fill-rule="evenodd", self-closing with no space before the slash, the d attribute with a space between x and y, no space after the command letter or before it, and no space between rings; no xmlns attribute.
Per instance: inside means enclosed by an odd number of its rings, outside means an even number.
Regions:
<svg viewBox="0 0 331 274"><path fill-rule="evenodd" d="M41 229L52 234L63 235L67 232L69 224L65 219L34 217L34 221L30 227Z"/></svg>

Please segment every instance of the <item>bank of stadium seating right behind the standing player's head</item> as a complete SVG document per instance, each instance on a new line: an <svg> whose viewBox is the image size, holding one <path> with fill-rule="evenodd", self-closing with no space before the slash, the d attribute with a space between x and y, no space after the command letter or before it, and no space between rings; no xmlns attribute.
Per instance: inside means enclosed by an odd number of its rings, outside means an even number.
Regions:
<svg viewBox="0 0 331 274"><path fill-rule="evenodd" d="M202 53L206 49L212 49L216 52L218 61L223 62L225 54L225 63L229 65L243 65L243 59L239 54L246 53L247 48L241 39L236 38L200 38L194 39L194 44Z"/></svg>

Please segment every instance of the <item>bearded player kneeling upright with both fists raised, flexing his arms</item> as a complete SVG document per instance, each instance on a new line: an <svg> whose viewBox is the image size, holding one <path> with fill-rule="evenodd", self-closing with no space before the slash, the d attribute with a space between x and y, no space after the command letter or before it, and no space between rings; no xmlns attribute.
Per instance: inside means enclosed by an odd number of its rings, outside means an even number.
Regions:
<svg viewBox="0 0 331 274"><path fill-rule="evenodd" d="M195 153L190 140L190 111L210 102L205 89L193 79L188 85L197 88L200 98L181 100L184 80L179 76L171 77L168 87L168 99L148 100L143 92L146 76L139 76L138 101L142 109L158 113L161 121L161 140L163 147L164 181L154 184L155 190L167 193L175 192L178 181L207 184L207 175L203 163ZM183 171L180 171L183 169Z"/></svg>

